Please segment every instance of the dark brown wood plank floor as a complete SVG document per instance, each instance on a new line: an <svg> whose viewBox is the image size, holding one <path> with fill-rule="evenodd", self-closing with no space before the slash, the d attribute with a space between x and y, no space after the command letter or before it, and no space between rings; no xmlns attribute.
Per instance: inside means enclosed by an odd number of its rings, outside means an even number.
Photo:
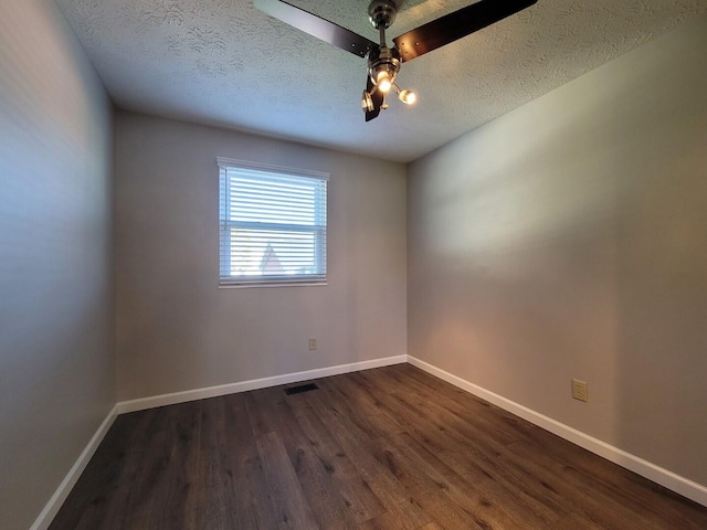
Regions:
<svg viewBox="0 0 707 530"><path fill-rule="evenodd" d="M707 529L707 508L409 364L316 384L119 416L51 530Z"/></svg>

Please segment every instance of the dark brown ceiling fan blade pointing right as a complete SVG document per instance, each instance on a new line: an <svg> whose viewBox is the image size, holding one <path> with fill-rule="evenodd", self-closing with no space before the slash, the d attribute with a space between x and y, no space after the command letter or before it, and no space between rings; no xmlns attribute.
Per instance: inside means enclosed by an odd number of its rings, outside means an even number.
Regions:
<svg viewBox="0 0 707 530"><path fill-rule="evenodd" d="M537 0L481 0L445 14L393 39L403 62L462 39L506 17L529 8Z"/></svg>

